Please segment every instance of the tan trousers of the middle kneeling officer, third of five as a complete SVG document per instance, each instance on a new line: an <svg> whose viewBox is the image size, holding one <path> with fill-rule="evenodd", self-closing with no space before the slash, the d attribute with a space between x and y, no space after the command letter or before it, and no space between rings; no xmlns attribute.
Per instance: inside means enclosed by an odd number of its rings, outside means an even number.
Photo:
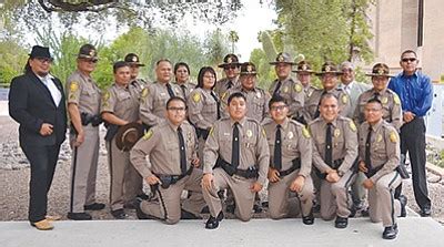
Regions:
<svg viewBox="0 0 444 247"><path fill-rule="evenodd" d="M285 217L309 216L313 207L314 187L311 176L305 178L302 192L297 193L297 202L290 197L290 185L297 177L299 171L281 177L276 183L269 183L270 217L280 219Z"/></svg>

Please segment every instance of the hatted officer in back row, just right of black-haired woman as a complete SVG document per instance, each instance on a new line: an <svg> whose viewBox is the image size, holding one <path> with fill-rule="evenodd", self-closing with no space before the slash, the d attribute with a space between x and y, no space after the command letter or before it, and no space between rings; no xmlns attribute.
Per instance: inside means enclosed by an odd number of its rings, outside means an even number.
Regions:
<svg viewBox="0 0 444 247"><path fill-rule="evenodd" d="M238 80L240 65L238 55L235 54L226 54L225 58L223 58L223 63L218 65L219 68L222 68L225 73L225 78L215 83L214 92L219 97L222 97L226 90L239 85Z"/></svg>

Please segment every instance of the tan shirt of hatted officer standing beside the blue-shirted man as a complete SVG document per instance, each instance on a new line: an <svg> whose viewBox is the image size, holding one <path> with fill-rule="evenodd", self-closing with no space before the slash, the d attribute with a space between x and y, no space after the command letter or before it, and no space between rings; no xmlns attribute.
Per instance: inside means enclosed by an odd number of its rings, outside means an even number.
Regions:
<svg viewBox="0 0 444 247"><path fill-rule="evenodd" d="M357 106L354 111L353 120L357 124L362 124L365 121L364 110L365 104L369 100L375 96L375 91L369 90L362 93L357 97ZM382 103L382 119L386 122L391 123L397 131L400 131L403 121L402 121L402 109L401 109L401 100L395 92L390 89L386 89L380 92L377 95L377 100Z"/></svg>

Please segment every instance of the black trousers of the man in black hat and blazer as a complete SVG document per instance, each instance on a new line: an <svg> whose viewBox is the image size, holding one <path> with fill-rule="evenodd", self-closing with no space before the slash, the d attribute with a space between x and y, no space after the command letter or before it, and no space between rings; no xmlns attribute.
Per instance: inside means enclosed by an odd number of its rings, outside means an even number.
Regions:
<svg viewBox="0 0 444 247"><path fill-rule="evenodd" d="M60 145L20 144L20 146L31 164L28 218L29 222L37 223L47 215L48 192L54 176Z"/></svg>

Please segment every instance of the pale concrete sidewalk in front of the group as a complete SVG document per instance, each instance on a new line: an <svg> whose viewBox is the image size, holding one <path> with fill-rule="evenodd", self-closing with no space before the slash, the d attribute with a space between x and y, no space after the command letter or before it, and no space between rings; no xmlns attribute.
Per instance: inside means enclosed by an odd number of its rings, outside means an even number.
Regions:
<svg viewBox="0 0 444 247"><path fill-rule="evenodd" d="M398 220L395 240L384 240L381 224L353 218L346 229L333 222L315 219L224 219L215 230L204 229L204 220L182 220L165 225L155 220L57 222L54 230L39 231L28 222L0 223L0 246L443 246L444 227L432 218Z"/></svg>

